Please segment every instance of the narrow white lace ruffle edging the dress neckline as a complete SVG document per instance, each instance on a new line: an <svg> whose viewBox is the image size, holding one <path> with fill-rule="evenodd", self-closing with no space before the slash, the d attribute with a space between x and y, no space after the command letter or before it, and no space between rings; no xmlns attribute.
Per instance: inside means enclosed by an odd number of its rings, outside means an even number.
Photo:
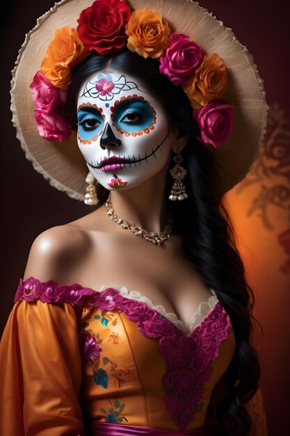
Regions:
<svg viewBox="0 0 290 436"><path fill-rule="evenodd" d="M102 292L103 290L107 288L114 288L117 289L122 297L136 299L139 302L143 302L147 304L151 309L155 309L159 313L161 313L162 316L165 316L170 322L172 322L176 327L184 334L188 334L186 332L186 328L184 327L184 323L177 318L177 315L172 312L166 312L163 306L161 304L155 305L152 300L148 297L145 297L145 295L138 292L138 290L128 290L125 288L125 286L102 286L100 288L99 292ZM192 332L195 327L197 327L200 322L214 309L214 306L218 303L218 297L216 297L216 293L214 290L210 289L211 297L209 297L207 302L200 303L200 306L198 306L198 309L193 313L192 321L191 321L191 327L189 328L189 332Z"/></svg>

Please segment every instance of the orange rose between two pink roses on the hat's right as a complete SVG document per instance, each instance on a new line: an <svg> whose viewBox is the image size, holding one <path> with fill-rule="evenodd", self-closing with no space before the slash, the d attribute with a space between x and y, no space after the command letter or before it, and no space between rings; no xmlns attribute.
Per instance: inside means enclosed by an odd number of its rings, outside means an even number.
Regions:
<svg viewBox="0 0 290 436"><path fill-rule="evenodd" d="M184 84L184 92L195 109L220 98L226 88L227 70L225 63L216 53L204 56L194 75Z"/></svg>

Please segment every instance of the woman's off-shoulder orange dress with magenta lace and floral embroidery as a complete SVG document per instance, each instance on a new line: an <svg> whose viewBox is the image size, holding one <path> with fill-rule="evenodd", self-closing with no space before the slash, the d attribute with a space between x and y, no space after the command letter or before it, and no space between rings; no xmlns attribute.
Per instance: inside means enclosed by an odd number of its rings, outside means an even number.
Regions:
<svg viewBox="0 0 290 436"><path fill-rule="evenodd" d="M234 350L215 294L187 334L123 287L20 280L0 348L0 434L89 435L83 421L194 433Z"/></svg>

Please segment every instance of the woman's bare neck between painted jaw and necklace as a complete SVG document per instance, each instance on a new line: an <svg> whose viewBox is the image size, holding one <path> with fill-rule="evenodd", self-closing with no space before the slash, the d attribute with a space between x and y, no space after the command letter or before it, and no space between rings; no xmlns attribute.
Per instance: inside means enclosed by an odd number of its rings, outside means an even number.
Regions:
<svg viewBox="0 0 290 436"><path fill-rule="evenodd" d="M163 231L167 221L166 171L167 168L161 170L134 188L111 192L115 214L147 231Z"/></svg>

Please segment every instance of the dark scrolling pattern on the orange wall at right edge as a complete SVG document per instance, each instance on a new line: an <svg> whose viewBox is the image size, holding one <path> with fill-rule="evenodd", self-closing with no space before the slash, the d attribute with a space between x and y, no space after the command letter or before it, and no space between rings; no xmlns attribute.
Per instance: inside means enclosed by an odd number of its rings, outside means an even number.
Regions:
<svg viewBox="0 0 290 436"><path fill-rule="evenodd" d="M250 172L236 189L236 195L254 185L256 189L247 210L248 217L257 215L264 228L274 231L280 224L277 212L287 214L289 227L278 233L277 243L287 254L280 271L290 274L290 125L279 104L274 104L268 111L264 144Z"/></svg>

